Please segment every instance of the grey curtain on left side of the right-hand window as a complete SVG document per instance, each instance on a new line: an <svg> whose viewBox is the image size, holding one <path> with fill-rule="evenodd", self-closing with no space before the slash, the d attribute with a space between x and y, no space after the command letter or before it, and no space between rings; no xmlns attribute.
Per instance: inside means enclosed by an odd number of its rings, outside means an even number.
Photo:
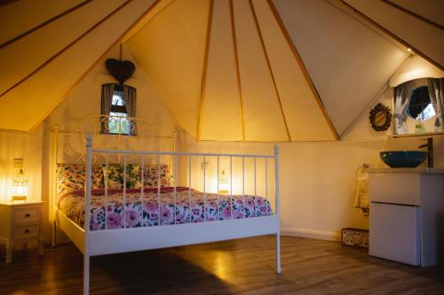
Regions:
<svg viewBox="0 0 444 295"><path fill-rule="evenodd" d="M402 134L407 132L406 120L408 117L407 108L412 96L413 82L402 83L393 89L394 97L394 118L395 133Z"/></svg>

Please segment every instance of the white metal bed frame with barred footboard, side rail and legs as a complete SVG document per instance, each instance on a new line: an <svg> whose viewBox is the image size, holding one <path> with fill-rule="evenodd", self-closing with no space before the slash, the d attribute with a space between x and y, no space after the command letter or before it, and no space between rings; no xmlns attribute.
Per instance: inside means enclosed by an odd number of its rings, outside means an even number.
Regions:
<svg viewBox="0 0 444 295"><path fill-rule="evenodd" d="M192 157L228 157L230 159L230 169L232 168L232 161L235 157L242 158L242 177L245 175L244 162L246 158L254 159L255 163L255 195L256 195L256 160L257 159L274 159L274 198L275 208L273 215L267 216L254 216L245 217L241 219L230 219L225 221L203 221L203 222L191 222L182 224L162 225L160 222L160 216L158 225L155 226L142 226L139 228L123 228L123 229L102 229L92 230L90 229L91 221L91 167L93 154L119 154L124 159L124 173L126 176L126 158L128 155L140 156L142 162L142 174L144 167L145 157L157 156L158 163L158 178L157 178L157 194L158 201L160 202L160 159L163 155L169 155L173 157L176 163L179 156L185 156L188 158L188 163L191 163ZM60 212L57 206L55 208L55 221L52 244L55 245L55 223L59 224L59 227L67 234L71 241L77 246L77 248L83 252L83 294L89 294L90 291L90 257L96 255L112 254L119 252L135 252L149 249L158 249L165 247L173 247L179 245L193 245L200 243L208 243L222 240L229 240L242 237L255 237L262 235L274 234L276 235L276 272L281 274L281 240L280 240L280 221L279 221L279 148L274 145L274 155L254 155L254 154L222 154L222 153L196 153L196 152L164 152L164 151L121 151L121 150L99 150L92 148L92 136L86 136L86 175L85 175L85 206L84 206L84 229L71 221L67 216ZM107 162L106 162L107 165ZM219 164L218 164L219 165ZM174 169L174 208L176 207L176 169ZM189 165L188 175L188 187L190 188L191 196L191 165ZM230 177L232 177L230 173ZM244 180L243 180L244 181ZM125 179L123 183L125 183ZM266 182L267 169L266 169ZM205 183L205 166L203 165L203 183ZM233 191L233 182L230 182L230 194ZM205 184L203 184L205 186ZM218 183L219 185L219 183ZM267 185L267 184L266 184ZM107 195L107 182L105 182L105 192ZM144 193L143 177L140 193ZM243 194L244 195L244 194ZM205 187L203 189L203 196L205 198ZM219 196L218 196L219 197ZM126 187L123 185L123 204L126 200ZM191 197L190 197L191 198ZM143 198L142 208L143 208ZM234 198L231 198L233 201ZM205 200L204 200L205 204ZM159 204L160 205L160 204ZM230 202L231 213L233 216L233 202ZM242 202L243 206L243 202ZM205 206L204 216L206 216ZM125 206L123 206L123 216ZM160 206L158 206L160 209ZM105 210L107 213L107 210ZM218 213L219 214L219 213ZM105 218L107 220L107 217ZM124 223L124 221L123 221ZM174 223L176 223L176 217L174 216Z"/></svg>

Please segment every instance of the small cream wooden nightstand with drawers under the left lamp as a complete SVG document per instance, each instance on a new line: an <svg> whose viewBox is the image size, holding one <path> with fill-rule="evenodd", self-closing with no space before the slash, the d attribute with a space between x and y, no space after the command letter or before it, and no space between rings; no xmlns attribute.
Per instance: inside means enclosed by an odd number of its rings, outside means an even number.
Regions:
<svg viewBox="0 0 444 295"><path fill-rule="evenodd" d="M42 231L42 201L0 203L0 243L6 244L6 263L12 261L15 244L37 240L39 253L44 255Z"/></svg>

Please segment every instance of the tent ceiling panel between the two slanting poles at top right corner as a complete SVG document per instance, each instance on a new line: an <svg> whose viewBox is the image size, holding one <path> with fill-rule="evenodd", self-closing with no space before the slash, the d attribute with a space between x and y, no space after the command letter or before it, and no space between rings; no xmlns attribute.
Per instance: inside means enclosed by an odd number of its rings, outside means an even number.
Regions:
<svg viewBox="0 0 444 295"><path fill-rule="evenodd" d="M376 21L392 34L444 67L444 30L381 1L345 0L345 3ZM442 15L444 4L439 4Z"/></svg>

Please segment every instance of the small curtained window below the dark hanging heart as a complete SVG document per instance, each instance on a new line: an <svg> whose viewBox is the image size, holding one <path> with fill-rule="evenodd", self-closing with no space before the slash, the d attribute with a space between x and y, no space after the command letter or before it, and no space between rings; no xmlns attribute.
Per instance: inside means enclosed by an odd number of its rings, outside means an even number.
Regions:
<svg viewBox="0 0 444 295"><path fill-rule="evenodd" d="M126 97L125 97L126 96ZM101 133L134 135L134 124L129 117L135 116L136 89L123 84L102 85Z"/></svg>

